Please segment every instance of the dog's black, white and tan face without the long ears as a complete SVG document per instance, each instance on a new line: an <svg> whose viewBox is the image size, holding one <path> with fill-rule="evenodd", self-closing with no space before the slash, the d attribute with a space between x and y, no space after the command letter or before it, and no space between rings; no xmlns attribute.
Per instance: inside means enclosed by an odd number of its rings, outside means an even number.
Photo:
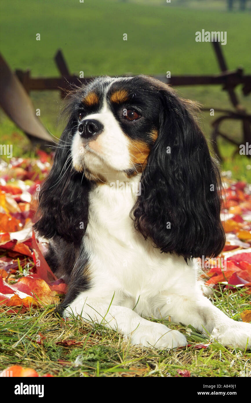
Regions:
<svg viewBox="0 0 251 403"><path fill-rule="evenodd" d="M146 85L147 83L147 85ZM142 172L158 137L158 95L146 77L97 79L81 93L72 160L78 172L109 181Z"/></svg>

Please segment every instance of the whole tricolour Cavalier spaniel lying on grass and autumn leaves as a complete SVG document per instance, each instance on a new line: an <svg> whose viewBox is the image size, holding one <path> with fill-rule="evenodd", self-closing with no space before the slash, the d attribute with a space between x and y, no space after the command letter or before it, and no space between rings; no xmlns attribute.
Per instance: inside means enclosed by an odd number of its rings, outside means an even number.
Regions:
<svg viewBox="0 0 251 403"><path fill-rule="evenodd" d="M225 234L220 173L190 105L143 75L76 88L35 230L68 283L57 308L66 317L118 330L133 345L186 345L154 317L251 347L251 324L212 305L197 280L197 258L217 256Z"/></svg>

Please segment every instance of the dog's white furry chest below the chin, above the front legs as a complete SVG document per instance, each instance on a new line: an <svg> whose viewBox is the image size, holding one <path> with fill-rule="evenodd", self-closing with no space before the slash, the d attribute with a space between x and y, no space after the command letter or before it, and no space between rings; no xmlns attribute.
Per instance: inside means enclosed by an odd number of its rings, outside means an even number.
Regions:
<svg viewBox="0 0 251 403"><path fill-rule="evenodd" d="M194 278L183 258L161 253L135 230L130 217L134 203L132 193L119 193L107 185L92 191L85 237L95 284L102 285L103 293L119 290L121 298L127 302L131 298L132 304L139 295L141 301L163 293L166 298L168 289L180 288L186 272L190 281Z"/></svg>

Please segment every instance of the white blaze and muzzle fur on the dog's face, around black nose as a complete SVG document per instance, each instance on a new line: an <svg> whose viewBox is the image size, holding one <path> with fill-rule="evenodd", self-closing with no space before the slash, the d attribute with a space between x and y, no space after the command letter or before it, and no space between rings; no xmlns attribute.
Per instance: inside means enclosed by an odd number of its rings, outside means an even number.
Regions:
<svg viewBox="0 0 251 403"><path fill-rule="evenodd" d="M93 162L95 161L95 166L97 166L95 158L97 156L100 157L107 166L114 170L130 169L132 166L130 162L129 140L120 128L118 121L109 109L106 101L109 87L110 86L106 88L106 92L104 93L103 106L100 112L89 114L83 119L95 119L104 126L102 133L93 140L89 140L87 150L95 153L95 155L93 154ZM88 153L88 156L86 155L84 142L79 135L79 131L74 135L71 150L75 167L81 164L82 161L87 165L87 168L94 168L91 166L92 155L90 152Z"/></svg>

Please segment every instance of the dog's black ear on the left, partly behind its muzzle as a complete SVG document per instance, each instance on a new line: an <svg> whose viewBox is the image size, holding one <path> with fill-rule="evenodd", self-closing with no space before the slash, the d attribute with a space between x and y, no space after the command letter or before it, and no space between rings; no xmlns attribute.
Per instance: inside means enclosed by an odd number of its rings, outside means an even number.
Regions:
<svg viewBox="0 0 251 403"><path fill-rule="evenodd" d="M76 127L77 121L70 117L39 192L34 229L47 239L61 237L79 244L87 227L89 181L72 166L71 140Z"/></svg>

